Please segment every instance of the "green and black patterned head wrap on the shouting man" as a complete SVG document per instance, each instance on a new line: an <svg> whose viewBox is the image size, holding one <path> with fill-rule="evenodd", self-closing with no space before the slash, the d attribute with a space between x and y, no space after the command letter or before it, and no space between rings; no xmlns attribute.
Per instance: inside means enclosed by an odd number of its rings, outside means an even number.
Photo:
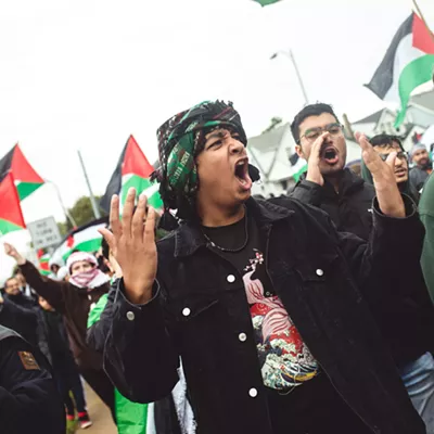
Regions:
<svg viewBox="0 0 434 434"><path fill-rule="evenodd" d="M166 208L179 210L186 201L193 204L199 188L195 157L203 150L205 136L225 127L235 130L240 141L247 143L240 115L232 103L222 101L202 102L178 113L158 128L161 167L153 178L161 182L159 194Z"/></svg>

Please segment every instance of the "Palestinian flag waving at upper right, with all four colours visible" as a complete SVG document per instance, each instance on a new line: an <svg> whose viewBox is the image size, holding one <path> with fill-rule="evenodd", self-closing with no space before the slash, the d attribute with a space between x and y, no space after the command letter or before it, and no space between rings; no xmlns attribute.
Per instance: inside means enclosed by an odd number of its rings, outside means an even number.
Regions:
<svg viewBox="0 0 434 434"><path fill-rule="evenodd" d="M366 85L384 101L398 102L395 128L404 122L411 92L430 81L434 69L434 35L412 13L398 28L388 50Z"/></svg>

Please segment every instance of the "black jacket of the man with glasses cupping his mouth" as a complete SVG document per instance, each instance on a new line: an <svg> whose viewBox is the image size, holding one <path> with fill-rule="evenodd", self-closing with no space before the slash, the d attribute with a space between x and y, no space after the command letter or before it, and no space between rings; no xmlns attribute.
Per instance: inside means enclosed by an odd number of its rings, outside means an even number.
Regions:
<svg viewBox="0 0 434 434"><path fill-rule="evenodd" d="M339 194L328 182L320 187L304 180L295 187L291 196L326 210L340 230L356 233L363 240L369 239L375 190L349 169L344 170ZM396 232L395 237L399 240L403 234ZM381 288L384 283L379 282L375 290L380 298L370 303L398 367L434 349L434 307L420 266L421 253L396 261L388 283L391 291L384 291Z"/></svg>

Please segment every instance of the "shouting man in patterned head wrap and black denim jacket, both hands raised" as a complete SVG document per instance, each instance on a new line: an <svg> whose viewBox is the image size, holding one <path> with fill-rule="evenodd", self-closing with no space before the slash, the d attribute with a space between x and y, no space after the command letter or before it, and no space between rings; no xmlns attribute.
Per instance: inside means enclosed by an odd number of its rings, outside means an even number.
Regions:
<svg viewBox="0 0 434 434"><path fill-rule="evenodd" d="M201 103L157 136L161 194L183 222L156 245L155 212L144 225L146 199L133 212L131 190L102 231L124 275L104 348L122 394L167 396L181 357L199 432L425 433L363 299L381 299L372 279L422 244L393 158L360 137L378 188L366 244L298 201L251 197L231 104Z"/></svg>

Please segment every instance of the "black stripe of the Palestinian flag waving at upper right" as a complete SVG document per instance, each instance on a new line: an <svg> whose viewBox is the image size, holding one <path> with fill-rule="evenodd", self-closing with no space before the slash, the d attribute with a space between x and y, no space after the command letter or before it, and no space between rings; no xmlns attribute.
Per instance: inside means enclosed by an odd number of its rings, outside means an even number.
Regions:
<svg viewBox="0 0 434 434"><path fill-rule="evenodd" d="M396 50L398 49L399 42L412 33L413 26L413 14L411 14L398 28L398 31L394 36L391 46L386 51L386 55L376 68L371 81L365 85L368 89L372 90L380 99L384 99L388 89L391 89L394 78L394 63L396 56Z"/></svg>

